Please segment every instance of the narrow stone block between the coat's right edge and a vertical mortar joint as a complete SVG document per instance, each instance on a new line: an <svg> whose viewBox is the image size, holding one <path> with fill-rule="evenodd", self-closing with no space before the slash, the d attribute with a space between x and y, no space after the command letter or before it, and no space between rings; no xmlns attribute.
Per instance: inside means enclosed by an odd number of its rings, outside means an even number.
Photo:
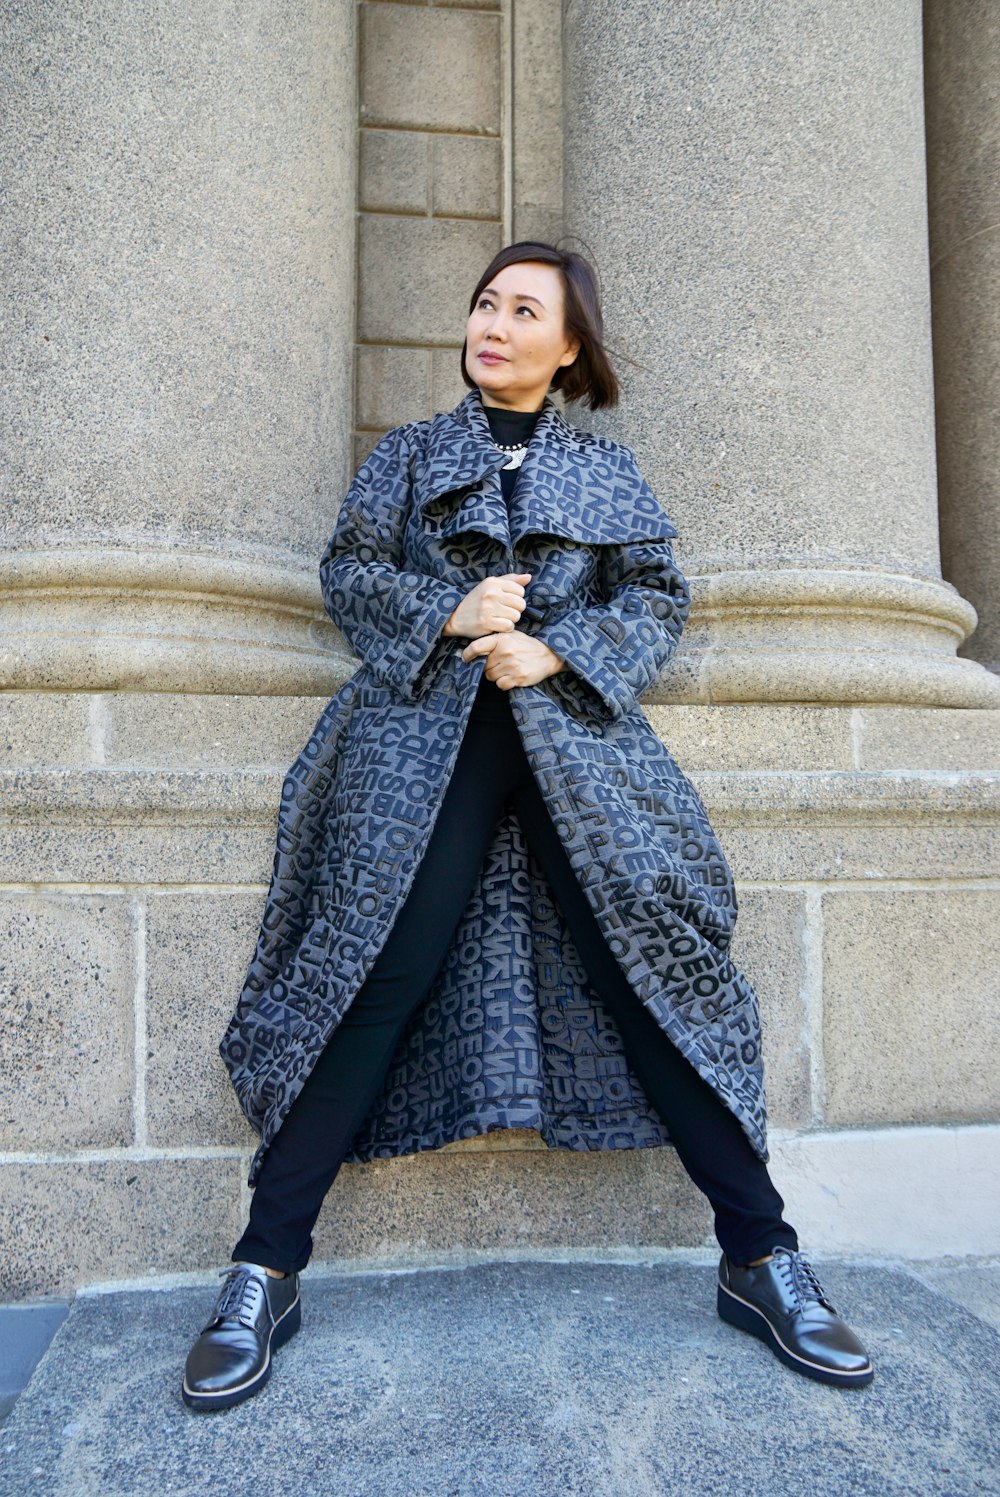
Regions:
<svg viewBox="0 0 1000 1497"><path fill-rule="evenodd" d="M787 889L738 889L732 958L760 1000L768 1121L811 1118L810 1039L805 1010L805 897Z"/></svg>

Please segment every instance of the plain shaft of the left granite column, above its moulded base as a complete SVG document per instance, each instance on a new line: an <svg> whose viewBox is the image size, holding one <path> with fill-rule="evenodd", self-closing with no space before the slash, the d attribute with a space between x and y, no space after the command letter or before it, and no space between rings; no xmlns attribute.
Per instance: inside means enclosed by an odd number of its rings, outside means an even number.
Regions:
<svg viewBox="0 0 1000 1497"><path fill-rule="evenodd" d="M349 458L353 24L347 0L3 7L18 546L325 543Z"/></svg>

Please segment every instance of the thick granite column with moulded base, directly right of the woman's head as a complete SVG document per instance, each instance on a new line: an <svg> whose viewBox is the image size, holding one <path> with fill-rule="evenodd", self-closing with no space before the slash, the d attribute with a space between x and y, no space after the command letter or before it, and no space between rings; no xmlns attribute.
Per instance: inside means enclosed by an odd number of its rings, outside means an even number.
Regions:
<svg viewBox="0 0 1000 1497"><path fill-rule="evenodd" d="M696 609L671 701L984 707L942 581L919 0L564 4L566 226Z"/></svg>

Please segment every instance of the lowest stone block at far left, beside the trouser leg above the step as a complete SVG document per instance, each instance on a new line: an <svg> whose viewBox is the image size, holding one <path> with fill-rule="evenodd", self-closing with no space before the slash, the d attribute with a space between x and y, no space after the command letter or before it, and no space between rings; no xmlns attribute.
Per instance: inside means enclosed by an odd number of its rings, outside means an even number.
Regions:
<svg viewBox="0 0 1000 1497"><path fill-rule="evenodd" d="M246 1172L243 1157L0 1165L0 1295L222 1268Z"/></svg>

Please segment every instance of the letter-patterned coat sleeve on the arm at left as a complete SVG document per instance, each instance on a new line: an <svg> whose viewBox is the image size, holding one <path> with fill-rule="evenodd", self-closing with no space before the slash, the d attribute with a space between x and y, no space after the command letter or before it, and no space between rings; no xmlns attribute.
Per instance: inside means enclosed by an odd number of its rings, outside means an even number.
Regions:
<svg viewBox="0 0 1000 1497"><path fill-rule="evenodd" d="M382 684L416 702L458 641L442 629L463 593L400 564L413 499L406 427L386 433L358 469L319 578L323 606Z"/></svg>

